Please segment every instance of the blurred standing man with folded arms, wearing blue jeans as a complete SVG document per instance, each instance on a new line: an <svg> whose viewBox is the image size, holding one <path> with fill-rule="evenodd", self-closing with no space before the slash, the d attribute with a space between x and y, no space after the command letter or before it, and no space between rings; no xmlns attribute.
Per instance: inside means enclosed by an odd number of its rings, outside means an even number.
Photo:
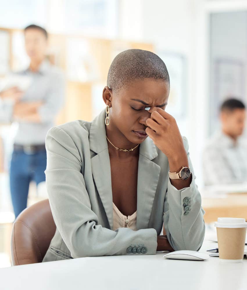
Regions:
<svg viewBox="0 0 247 290"><path fill-rule="evenodd" d="M16 73L31 77L22 93L18 88L0 92L0 121L19 124L10 164L10 192L15 217L27 206L31 180L45 181L46 133L54 126L64 103L65 80L62 72L46 60L48 35L44 28L30 25L24 30L29 67Z"/></svg>

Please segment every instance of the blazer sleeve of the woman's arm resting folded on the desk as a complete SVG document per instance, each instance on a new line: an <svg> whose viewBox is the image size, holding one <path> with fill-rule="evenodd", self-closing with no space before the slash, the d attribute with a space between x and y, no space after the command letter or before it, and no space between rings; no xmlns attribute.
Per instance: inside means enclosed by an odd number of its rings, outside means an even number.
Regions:
<svg viewBox="0 0 247 290"><path fill-rule="evenodd" d="M88 136L86 136L88 138ZM81 150L81 149L80 149ZM157 231L112 231L99 224L92 211L82 169L82 160L73 139L60 127L46 135L46 186L55 224L73 258L103 255L134 255L130 245L144 244L146 254L157 249Z"/></svg>

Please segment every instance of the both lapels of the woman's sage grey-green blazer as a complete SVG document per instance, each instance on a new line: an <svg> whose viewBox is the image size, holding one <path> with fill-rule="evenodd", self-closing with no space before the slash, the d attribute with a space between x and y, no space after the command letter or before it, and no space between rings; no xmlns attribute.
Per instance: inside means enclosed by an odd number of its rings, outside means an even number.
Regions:
<svg viewBox="0 0 247 290"><path fill-rule="evenodd" d="M105 132L105 110L91 123L90 150L96 155L91 158L92 174L99 192L110 229L113 229L112 181L110 157ZM160 176L160 166L152 160L157 157L153 140L147 137L140 144L137 178L137 229L148 228L153 200Z"/></svg>

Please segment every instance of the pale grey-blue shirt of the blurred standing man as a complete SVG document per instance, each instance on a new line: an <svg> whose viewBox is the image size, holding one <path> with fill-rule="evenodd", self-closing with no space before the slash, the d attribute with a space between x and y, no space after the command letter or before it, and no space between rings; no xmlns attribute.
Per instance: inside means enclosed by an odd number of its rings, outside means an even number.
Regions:
<svg viewBox="0 0 247 290"><path fill-rule="evenodd" d="M48 130L54 126L54 119L62 108L65 99L65 78L62 71L43 61L37 72L29 68L14 73L30 76L32 81L23 95L21 102L41 101L38 108L41 122L18 121L18 130L14 142L16 144L31 145L44 144ZM12 122L14 103L11 100L1 100L0 122Z"/></svg>

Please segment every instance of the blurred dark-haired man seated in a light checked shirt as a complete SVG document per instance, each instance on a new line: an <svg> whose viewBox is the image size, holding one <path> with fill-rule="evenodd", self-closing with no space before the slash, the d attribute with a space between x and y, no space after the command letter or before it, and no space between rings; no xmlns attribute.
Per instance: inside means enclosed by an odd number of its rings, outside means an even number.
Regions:
<svg viewBox="0 0 247 290"><path fill-rule="evenodd" d="M247 144L239 138L246 121L245 105L228 99L221 105L221 131L203 152L205 185L247 182Z"/></svg>

